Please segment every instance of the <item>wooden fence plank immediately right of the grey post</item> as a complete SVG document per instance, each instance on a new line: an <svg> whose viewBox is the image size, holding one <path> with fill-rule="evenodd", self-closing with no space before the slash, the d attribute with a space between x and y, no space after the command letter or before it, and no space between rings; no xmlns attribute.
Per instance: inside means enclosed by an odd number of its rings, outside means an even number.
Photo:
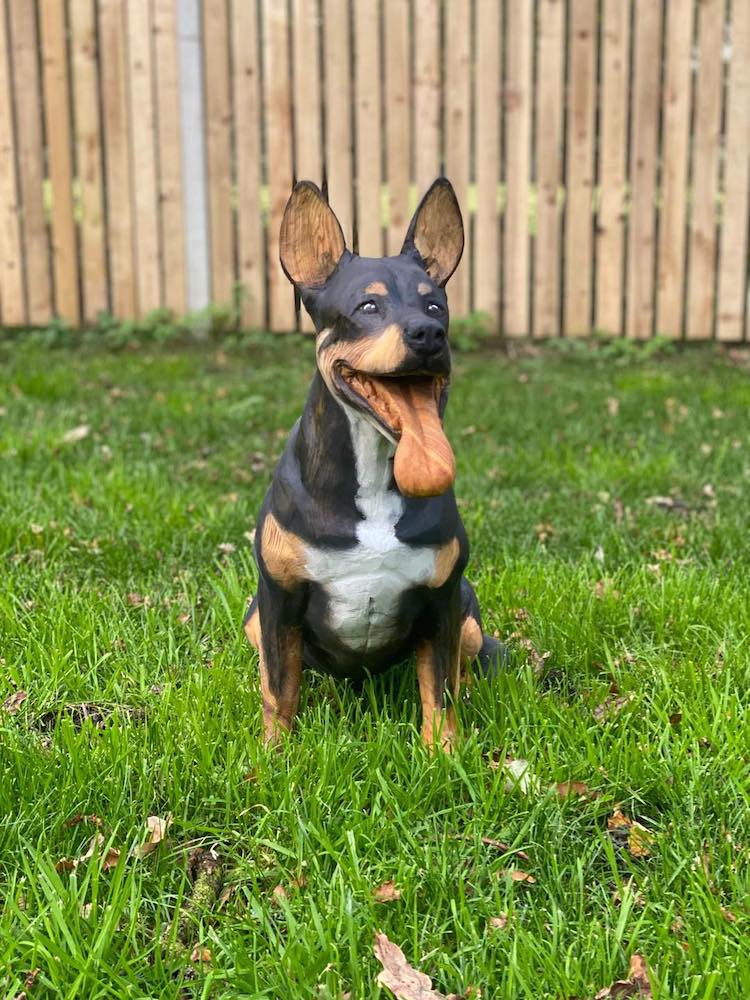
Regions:
<svg viewBox="0 0 750 1000"><path fill-rule="evenodd" d="M228 32L226 0L203 0L211 298L221 305L232 301L234 284Z"/></svg>

